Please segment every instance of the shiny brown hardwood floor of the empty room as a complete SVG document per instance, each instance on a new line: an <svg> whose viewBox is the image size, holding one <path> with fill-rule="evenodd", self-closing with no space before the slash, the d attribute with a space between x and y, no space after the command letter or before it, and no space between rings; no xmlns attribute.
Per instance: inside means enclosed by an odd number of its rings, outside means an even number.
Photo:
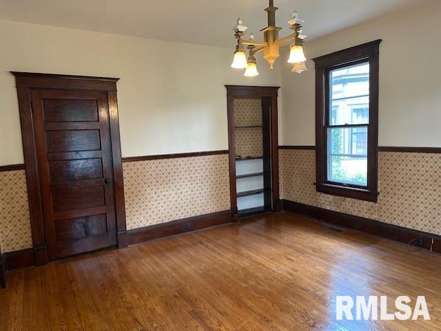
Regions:
<svg viewBox="0 0 441 331"><path fill-rule="evenodd" d="M267 214L14 271L0 330L441 330L440 278L441 255ZM336 321L336 295L424 295L431 321Z"/></svg>

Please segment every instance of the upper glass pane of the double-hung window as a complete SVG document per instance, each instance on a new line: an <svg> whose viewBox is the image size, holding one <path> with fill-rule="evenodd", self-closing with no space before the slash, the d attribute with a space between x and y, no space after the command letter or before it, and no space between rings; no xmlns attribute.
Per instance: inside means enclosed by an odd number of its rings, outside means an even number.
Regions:
<svg viewBox="0 0 441 331"><path fill-rule="evenodd" d="M329 72L329 125L369 123L369 63Z"/></svg>

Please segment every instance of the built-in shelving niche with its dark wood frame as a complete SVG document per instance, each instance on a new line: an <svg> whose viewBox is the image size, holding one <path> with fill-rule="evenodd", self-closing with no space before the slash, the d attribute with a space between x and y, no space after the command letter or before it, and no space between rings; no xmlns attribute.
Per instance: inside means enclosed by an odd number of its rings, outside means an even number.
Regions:
<svg viewBox="0 0 441 331"><path fill-rule="evenodd" d="M225 87L233 220L278 211L278 87Z"/></svg>

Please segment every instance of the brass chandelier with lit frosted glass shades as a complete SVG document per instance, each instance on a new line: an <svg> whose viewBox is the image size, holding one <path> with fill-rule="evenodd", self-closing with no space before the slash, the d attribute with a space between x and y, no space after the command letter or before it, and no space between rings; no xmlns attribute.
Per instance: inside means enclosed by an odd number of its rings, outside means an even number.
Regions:
<svg viewBox="0 0 441 331"><path fill-rule="evenodd" d="M292 19L288 21L288 24L291 26L291 30L294 30L294 33L279 38L278 32L282 28L276 26L276 10L278 8L274 7L274 0L269 0L269 7L265 9L268 13L268 26L260 30L263 33L264 41L254 41L253 34L250 34L249 39L243 39L247 27L243 25L241 19L238 19L237 25L233 28L237 45L232 67L235 69L245 69L244 76L258 76L259 73L254 55L260 52L263 52L263 58L269 63L269 68L271 70L274 69L274 62L280 57L280 48L289 49L288 63L294 64L292 72L300 74L307 70L305 65L306 58L302 47L303 40L306 38L302 34L302 23L305 21L298 18L298 12L293 12ZM290 44L286 44L288 41L290 41ZM245 54L245 45L247 45L247 50L249 51L248 58Z"/></svg>

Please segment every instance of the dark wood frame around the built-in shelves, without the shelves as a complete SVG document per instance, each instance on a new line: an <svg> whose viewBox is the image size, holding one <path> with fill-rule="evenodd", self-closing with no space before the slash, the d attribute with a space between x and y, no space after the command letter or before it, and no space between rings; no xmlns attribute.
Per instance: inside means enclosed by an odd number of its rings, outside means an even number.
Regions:
<svg viewBox="0 0 441 331"><path fill-rule="evenodd" d="M227 88L228 112L228 147L229 147L229 189L232 204L233 220L238 220L236 192L236 148L234 142L234 99L235 98L271 98L271 195L273 211L280 211L278 184L278 86L225 85Z"/></svg>

